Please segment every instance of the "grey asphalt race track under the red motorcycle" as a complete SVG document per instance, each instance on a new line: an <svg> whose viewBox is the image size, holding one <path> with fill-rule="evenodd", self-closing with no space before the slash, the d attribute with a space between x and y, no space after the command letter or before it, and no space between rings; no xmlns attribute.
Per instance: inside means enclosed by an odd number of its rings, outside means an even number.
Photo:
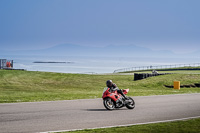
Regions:
<svg viewBox="0 0 200 133"><path fill-rule="evenodd" d="M133 97L136 107L107 111L102 99L0 104L0 132L100 128L200 116L200 94Z"/></svg>

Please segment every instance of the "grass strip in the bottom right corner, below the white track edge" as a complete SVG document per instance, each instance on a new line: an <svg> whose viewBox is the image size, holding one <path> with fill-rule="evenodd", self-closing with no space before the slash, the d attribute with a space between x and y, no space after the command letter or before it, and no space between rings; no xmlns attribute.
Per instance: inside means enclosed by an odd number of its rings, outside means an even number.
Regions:
<svg viewBox="0 0 200 133"><path fill-rule="evenodd" d="M73 131L69 133L199 133L200 119L135 125L129 127L114 127L93 130Z"/></svg>

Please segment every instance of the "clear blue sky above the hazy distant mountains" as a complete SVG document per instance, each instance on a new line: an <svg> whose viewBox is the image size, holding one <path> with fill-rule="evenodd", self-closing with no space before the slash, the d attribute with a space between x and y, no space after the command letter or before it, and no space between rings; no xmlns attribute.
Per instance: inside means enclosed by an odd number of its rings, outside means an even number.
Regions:
<svg viewBox="0 0 200 133"><path fill-rule="evenodd" d="M200 0L0 0L0 50L59 44L200 50Z"/></svg>

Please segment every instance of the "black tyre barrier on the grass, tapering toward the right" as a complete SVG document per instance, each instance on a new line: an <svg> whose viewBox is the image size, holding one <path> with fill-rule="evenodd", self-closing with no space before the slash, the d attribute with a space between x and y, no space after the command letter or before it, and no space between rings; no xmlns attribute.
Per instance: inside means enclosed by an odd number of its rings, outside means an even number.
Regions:
<svg viewBox="0 0 200 133"><path fill-rule="evenodd" d="M134 81L145 79L148 77L154 77L159 75L166 75L166 74L172 74L172 73L134 73Z"/></svg>

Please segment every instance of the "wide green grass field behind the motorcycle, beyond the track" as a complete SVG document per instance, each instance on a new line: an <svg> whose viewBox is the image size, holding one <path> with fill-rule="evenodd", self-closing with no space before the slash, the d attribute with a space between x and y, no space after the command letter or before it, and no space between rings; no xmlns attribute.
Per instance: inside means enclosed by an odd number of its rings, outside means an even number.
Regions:
<svg viewBox="0 0 200 133"><path fill-rule="evenodd" d="M0 103L101 98L105 82L130 88L129 96L199 93L200 88L174 90L163 85L200 82L199 74L171 74L133 81L133 75L87 75L0 70Z"/></svg>

